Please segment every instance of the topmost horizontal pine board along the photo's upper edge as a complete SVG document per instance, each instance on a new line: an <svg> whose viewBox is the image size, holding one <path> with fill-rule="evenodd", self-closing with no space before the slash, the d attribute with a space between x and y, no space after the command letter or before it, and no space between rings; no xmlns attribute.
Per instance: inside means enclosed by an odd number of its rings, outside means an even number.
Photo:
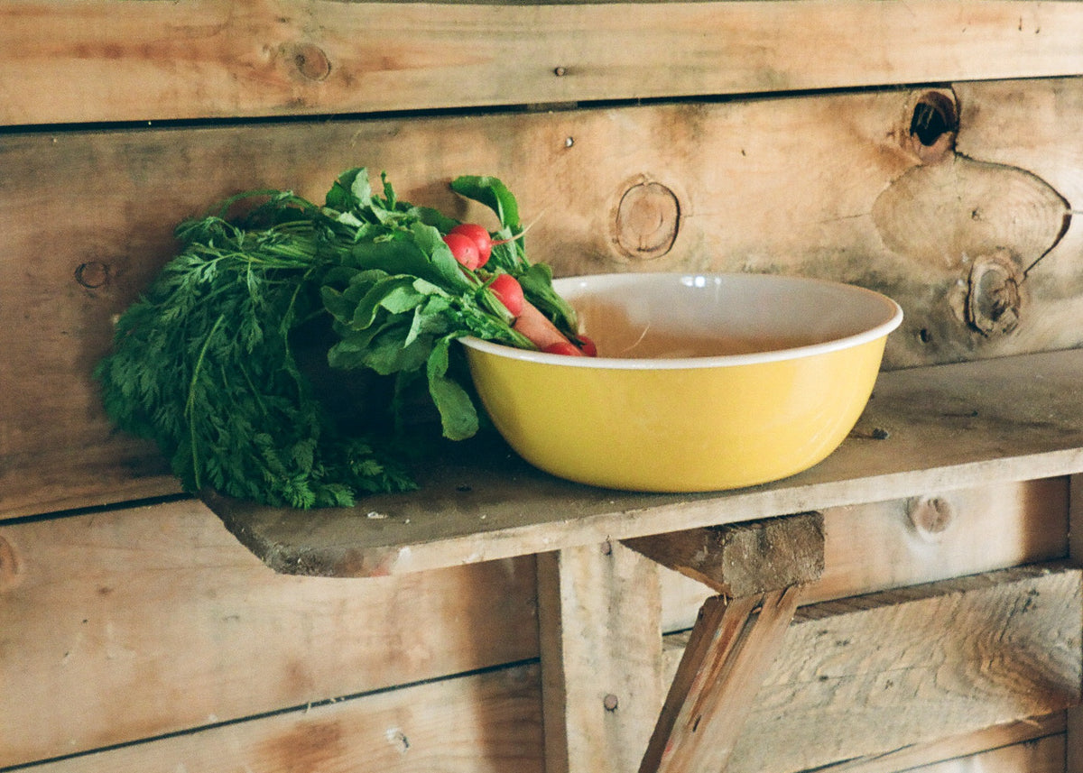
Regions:
<svg viewBox="0 0 1083 773"><path fill-rule="evenodd" d="M0 30L3 125L1083 73L1083 9L1072 2L37 1L5 4Z"/></svg>

